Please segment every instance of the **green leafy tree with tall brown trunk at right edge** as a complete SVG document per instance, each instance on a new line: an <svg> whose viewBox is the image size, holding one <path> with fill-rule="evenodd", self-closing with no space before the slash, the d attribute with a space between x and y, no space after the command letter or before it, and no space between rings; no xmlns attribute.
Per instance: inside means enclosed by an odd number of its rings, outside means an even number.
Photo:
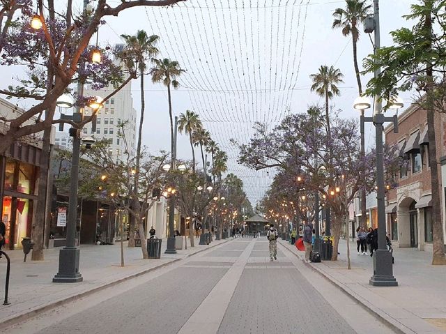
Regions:
<svg viewBox="0 0 446 334"><path fill-rule="evenodd" d="M432 264L446 264L443 221L440 212L440 181L437 160L435 122L436 112L445 110L446 1L420 0L410 6L414 21L412 28L392 31L394 45L381 47L364 59L364 72L382 72L369 80L367 94L386 99L387 105L398 91L416 89L420 92L417 104L426 109L429 137L429 166L431 171L433 211ZM386 106L387 107L387 106Z"/></svg>

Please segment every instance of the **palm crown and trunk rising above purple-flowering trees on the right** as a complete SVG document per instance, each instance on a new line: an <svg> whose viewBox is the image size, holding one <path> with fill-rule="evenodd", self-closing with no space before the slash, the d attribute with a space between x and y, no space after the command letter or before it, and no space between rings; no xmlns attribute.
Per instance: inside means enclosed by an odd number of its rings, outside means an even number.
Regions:
<svg viewBox="0 0 446 334"><path fill-rule="evenodd" d="M339 68L330 68L326 65L321 65L319 68L319 73L312 74L310 77L313 80L312 91L316 91L318 96L325 98L325 122L327 123L327 135L331 138L330 131L330 116L328 116L328 100L331 100L333 96L341 95L341 91L337 88L337 84L344 82L342 77L344 75L341 73Z"/></svg>

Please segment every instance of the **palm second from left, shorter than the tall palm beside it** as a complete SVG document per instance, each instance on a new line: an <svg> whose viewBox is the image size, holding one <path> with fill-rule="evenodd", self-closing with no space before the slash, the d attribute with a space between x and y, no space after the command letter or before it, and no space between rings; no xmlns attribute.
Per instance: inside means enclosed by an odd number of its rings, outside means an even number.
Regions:
<svg viewBox="0 0 446 334"><path fill-rule="evenodd" d="M169 117L170 117L170 135L171 135L171 154L174 155L174 118L172 116L172 98L170 87L173 86L177 89L180 85L176 78L185 72L180 68L178 61L171 61L170 59L152 59L155 63L155 67L151 68L150 74L152 75L152 82L154 84L162 82L164 86L167 86L167 98L169 100ZM174 157L173 157L174 158ZM172 159L173 161L174 159Z"/></svg>

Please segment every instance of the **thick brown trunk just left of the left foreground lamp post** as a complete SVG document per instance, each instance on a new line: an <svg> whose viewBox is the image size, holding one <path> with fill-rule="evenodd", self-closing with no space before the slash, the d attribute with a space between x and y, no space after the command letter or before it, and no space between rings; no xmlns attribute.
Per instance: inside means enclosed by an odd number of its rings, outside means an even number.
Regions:
<svg viewBox="0 0 446 334"><path fill-rule="evenodd" d="M54 109L56 104L54 103ZM40 169L38 181L38 201L36 208L35 221L33 222L33 230L31 236L33 238L34 246L31 260L43 261L43 231L45 229L45 208L47 202L47 184L48 184L48 169L49 169L49 150L51 139L51 123L43 131L43 145L42 153L40 155Z"/></svg>

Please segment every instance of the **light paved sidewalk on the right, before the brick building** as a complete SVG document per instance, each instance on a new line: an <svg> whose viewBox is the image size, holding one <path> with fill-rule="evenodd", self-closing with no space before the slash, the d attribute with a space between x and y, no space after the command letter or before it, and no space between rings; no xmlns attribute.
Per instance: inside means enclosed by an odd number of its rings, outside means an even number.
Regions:
<svg viewBox="0 0 446 334"><path fill-rule="evenodd" d="M305 252L279 243L303 259ZM347 269L347 243L339 241L338 261L307 264L400 333L446 333L446 267L431 266L431 253L413 249L394 250L394 277L398 287L372 287L373 262L358 255L350 242L351 270ZM367 324L364 324L367 326Z"/></svg>

